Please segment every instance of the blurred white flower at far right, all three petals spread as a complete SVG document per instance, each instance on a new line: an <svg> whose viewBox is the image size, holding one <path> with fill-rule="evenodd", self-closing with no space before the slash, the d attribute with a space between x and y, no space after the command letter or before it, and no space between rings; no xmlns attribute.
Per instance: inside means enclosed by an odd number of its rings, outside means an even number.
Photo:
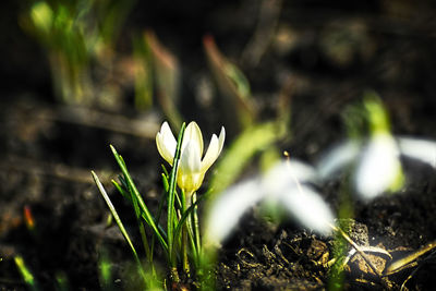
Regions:
<svg viewBox="0 0 436 291"><path fill-rule="evenodd" d="M353 186L362 198L372 199L385 192L401 189L404 182L401 156L436 168L436 142L395 138L377 133L367 143L348 141L339 144L320 159L316 168L320 180L326 181L355 163Z"/></svg>

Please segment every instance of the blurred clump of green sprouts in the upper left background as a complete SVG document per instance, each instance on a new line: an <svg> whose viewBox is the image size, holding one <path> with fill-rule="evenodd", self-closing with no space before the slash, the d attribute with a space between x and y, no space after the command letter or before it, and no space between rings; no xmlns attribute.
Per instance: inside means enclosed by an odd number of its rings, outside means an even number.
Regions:
<svg viewBox="0 0 436 291"><path fill-rule="evenodd" d="M31 1L21 26L44 47L53 90L65 104L88 105L97 84L94 64L105 65L134 0Z"/></svg>

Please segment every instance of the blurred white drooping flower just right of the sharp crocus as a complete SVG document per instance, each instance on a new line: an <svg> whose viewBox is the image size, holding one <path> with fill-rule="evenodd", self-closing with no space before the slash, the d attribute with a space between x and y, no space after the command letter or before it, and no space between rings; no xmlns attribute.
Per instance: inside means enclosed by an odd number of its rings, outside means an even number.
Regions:
<svg viewBox="0 0 436 291"><path fill-rule="evenodd" d="M299 222L329 234L334 215L318 193L305 184L314 181L314 169L299 161L279 162L263 177L229 187L211 205L206 221L206 242L220 244L250 208L264 201L281 205Z"/></svg>

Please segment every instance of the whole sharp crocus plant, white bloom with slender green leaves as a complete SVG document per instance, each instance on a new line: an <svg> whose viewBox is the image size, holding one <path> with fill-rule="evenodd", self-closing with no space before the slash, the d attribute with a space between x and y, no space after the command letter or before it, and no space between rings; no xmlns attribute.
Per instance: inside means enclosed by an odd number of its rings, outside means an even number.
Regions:
<svg viewBox="0 0 436 291"><path fill-rule="evenodd" d="M105 187L96 173L92 172L100 194L105 198L114 221L131 248L137 263L138 272L148 288L155 288L155 286L150 286L150 282L155 284L157 281L154 262L156 241L160 244L166 255L171 282L178 283L180 281L180 267L182 267L181 274L185 279L191 277L191 270L194 270L196 274L201 271L203 252L197 214L197 206L201 198L197 198L196 192L203 183L206 171L221 153L225 138L226 131L222 128L219 137L215 134L213 135L209 147L203 156L203 135L195 122L191 122L187 126L183 123L177 141L168 123L165 122L162 124L156 135L156 144L159 154L168 161L172 169L168 172L162 167L165 194L161 196L156 215L152 215L147 208L129 173L123 158L111 146L112 154L122 172L119 177L119 182L112 180L112 183L133 206L148 268L144 268L140 255ZM205 197L205 195L202 197ZM166 228L159 221L165 204L167 204ZM146 228L152 232L152 238L147 237L149 232L146 231ZM149 274L153 275L154 280L149 279Z"/></svg>

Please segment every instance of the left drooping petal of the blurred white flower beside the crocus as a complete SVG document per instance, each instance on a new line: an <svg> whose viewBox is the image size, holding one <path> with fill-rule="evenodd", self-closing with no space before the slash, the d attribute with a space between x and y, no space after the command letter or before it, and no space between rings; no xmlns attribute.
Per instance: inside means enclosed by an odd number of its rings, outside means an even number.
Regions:
<svg viewBox="0 0 436 291"><path fill-rule="evenodd" d="M206 220L207 243L220 244L231 233L245 211L264 197L257 180L229 187L214 202Z"/></svg>

